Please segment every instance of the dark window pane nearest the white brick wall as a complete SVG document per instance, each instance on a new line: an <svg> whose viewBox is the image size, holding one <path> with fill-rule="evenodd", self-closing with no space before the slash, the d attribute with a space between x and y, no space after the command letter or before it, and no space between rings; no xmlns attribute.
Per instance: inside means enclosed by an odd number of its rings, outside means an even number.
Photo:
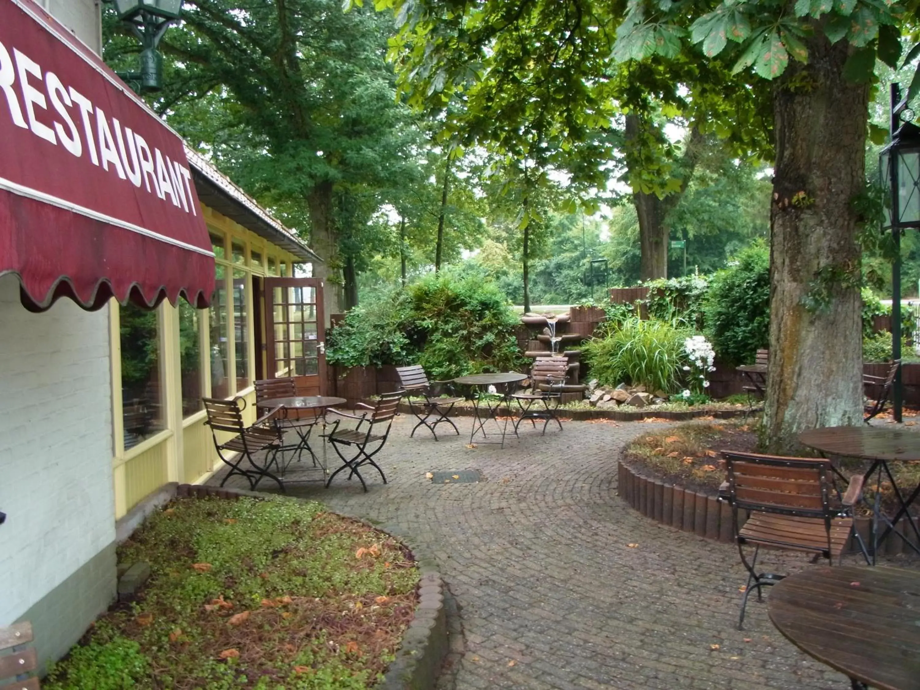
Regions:
<svg viewBox="0 0 920 690"><path fill-rule="evenodd" d="M121 307L121 416L124 447L166 428L160 390L160 340L156 311Z"/></svg>

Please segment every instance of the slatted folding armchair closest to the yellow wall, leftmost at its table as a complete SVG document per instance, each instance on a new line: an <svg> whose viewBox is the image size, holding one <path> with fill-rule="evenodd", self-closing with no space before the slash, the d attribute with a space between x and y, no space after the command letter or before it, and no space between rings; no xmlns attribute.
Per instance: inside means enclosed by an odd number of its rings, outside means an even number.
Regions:
<svg viewBox="0 0 920 690"><path fill-rule="evenodd" d="M273 475L269 469L284 443L282 431L274 422L279 408L272 409L251 426L247 426L243 422L243 410L246 408L245 398L236 397L233 400L223 400L202 397L201 400L204 401L204 409L208 414L208 420L204 423L211 427L217 454L224 461L224 465L230 467L221 486L223 487L230 477L240 475L246 477L249 482L249 490L255 491L262 477L269 477L274 479L283 491L282 480ZM239 406L237 402L239 400L243 401L243 407ZM217 437L218 431L232 435L227 441L222 442ZM264 453L264 462L257 459L256 454L259 453ZM248 463L248 466L244 466L244 461Z"/></svg>

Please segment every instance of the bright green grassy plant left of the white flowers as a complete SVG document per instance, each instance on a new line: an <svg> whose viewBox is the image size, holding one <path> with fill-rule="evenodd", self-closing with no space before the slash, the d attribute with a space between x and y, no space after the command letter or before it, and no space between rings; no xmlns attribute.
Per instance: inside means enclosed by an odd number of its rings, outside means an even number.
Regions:
<svg viewBox="0 0 920 690"><path fill-rule="evenodd" d="M585 362L604 385L626 382L667 393L676 389L683 374L689 335L667 321L633 316L622 325L611 324L603 338L586 342Z"/></svg>

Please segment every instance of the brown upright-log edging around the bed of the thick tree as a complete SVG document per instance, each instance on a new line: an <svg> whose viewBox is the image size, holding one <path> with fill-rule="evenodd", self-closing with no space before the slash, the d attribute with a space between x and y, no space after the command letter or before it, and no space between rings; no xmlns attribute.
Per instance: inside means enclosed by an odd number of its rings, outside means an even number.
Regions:
<svg viewBox="0 0 920 690"><path fill-rule="evenodd" d="M634 508L655 522L667 524L684 532L693 532L696 536L711 541L733 544L735 539L731 530L731 507L728 503L717 500L690 489L675 486L656 477L643 477L638 469L623 462L622 454L617 463L617 495ZM741 519L743 524L747 518ZM868 544L871 520L857 517L857 531ZM898 531L904 534L904 523L898 523ZM853 549L852 538L845 548ZM903 553L903 541L892 535L880 546L879 553L895 556Z"/></svg>

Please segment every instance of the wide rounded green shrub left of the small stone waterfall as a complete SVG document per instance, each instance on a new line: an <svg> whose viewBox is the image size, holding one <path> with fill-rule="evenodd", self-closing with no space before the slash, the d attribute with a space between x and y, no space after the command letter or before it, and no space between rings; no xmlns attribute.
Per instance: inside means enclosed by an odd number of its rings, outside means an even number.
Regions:
<svg viewBox="0 0 920 690"><path fill-rule="evenodd" d="M354 307L328 334L339 366L420 363L434 379L517 368L519 321L493 282L431 274Z"/></svg>

